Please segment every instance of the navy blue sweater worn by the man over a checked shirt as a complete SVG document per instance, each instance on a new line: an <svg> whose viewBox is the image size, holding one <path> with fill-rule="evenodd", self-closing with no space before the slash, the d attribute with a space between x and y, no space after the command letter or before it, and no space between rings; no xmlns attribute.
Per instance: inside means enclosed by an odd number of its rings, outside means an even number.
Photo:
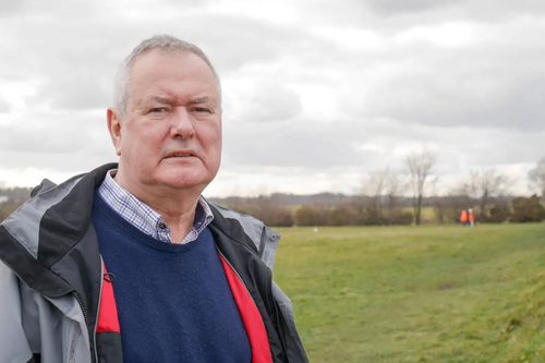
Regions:
<svg viewBox="0 0 545 363"><path fill-rule="evenodd" d="M252 351L208 228L156 240L95 193L93 223L112 283L124 362L250 363Z"/></svg>

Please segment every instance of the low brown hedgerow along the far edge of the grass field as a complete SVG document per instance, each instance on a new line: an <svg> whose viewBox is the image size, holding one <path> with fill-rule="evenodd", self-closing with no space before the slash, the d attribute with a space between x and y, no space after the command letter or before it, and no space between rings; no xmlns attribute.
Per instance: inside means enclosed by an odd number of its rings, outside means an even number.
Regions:
<svg viewBox="0 0 545 363"><path fill-rule="evenodd" d="M500 204L487 205L487 214L480 214L482 223L500 222L541 222L545 220L545 208L536 195L524 197L504 197L496 199ZM421 223L457 223L461 211L467 208L463 196L441 196L423 198L423 204L433 204L432 216L421 219ZM225 205L242 214L252 215L268 226L276 227L319 227L319 226L409 226L414 223L414 213L407 207L385 207L377 209L372 199L350 197L340 205L320 203L293 207L275 203L271 198L246 198Z"/></svg>

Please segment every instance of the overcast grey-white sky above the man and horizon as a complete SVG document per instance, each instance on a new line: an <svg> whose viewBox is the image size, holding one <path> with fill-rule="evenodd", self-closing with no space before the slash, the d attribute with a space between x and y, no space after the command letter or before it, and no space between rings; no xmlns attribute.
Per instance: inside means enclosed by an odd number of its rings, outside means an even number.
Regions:
<svg viewBox="0 0 545 363"><path fill-rule="evenodd" d="M116 161L119 62L167 33L223 86L223 160L206 196L353 193L432 149L443 191L497 168L528 193L545 155L545 1L0 0L0 185Z"/></svg>

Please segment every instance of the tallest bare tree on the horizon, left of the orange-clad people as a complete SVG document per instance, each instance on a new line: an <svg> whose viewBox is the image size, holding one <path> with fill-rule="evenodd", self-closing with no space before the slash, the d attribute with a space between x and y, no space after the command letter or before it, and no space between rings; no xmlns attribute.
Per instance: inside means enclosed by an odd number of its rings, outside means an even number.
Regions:
<svg viewBox="0 0 545 363"><path fill-rule="evenodd" d="M422 199L424 197L426 179L429 177L436 159L436 154L429 150L409 154L405 159L413 191L414 222L416 226L419 226L421 221Z"/></svg>

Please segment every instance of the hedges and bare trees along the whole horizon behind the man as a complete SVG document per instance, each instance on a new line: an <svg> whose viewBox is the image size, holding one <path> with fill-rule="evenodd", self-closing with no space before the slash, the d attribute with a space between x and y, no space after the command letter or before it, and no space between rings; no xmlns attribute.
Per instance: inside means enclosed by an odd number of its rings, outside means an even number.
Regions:
<svg viewBox="0 0 545 363"><path fill-rule="evenodd" d="M514 180L496 169L471 170L446 195L437 195L440 178L433 172L436 154L411 153L404 161L404 171L385 167L368 172L353 196L277 193L254 198L211 198L211 202L277 227L455 223L461 211L469 208L473 208L481 223L545 219L545 157L528 174L529 186L537 192L531 197L512 196ZM29 195L28 187L0 189L0 221Z"/></svg>

